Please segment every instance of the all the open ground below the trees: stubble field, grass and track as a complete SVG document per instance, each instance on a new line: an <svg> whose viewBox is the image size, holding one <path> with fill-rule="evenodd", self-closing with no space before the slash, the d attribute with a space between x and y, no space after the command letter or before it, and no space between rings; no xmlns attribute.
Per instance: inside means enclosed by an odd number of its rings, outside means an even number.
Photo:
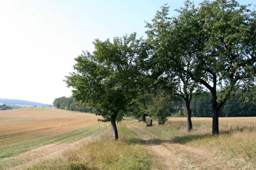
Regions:
<svg viewBox="0 0 256 170"><path fill-rule="evenodd" d="M125 118L113 141L110 123L90 113L55 108L0 111L0 169L29 170L253 170L256 118L220 118L211 136L211 118L169 118L145 128Z"/></svg>

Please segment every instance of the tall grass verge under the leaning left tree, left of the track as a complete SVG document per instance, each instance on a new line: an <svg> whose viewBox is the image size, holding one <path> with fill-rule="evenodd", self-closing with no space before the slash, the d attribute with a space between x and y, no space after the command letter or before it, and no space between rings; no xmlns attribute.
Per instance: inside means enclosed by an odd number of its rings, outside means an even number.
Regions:
<svg viewBox="0 0 256 170"><path fill-rule="evenodd" d="M70 149L55 159L41 161L29 170L149 170L151 155L137 136L119 123L119 140L108 128L91 142Z"/></svg>

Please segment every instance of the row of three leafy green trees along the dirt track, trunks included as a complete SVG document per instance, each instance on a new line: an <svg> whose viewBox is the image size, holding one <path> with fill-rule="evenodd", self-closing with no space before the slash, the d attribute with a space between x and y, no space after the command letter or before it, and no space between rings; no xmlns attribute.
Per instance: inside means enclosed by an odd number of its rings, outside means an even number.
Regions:
<svg viewBox="0 0 256 170"><path fill-rule="evenodd" d="M116 119L147 93L163 113L166 96L177 95L186 105L188 130L192 129L190 102L208 91L212 100L212 134L218 134L218 117L224 103L239 89L256 101L256 12L235 0L204 0L195 7L189 0L169 16L169 7L157 11L147 23L147 39L136 34L93 43L95 51L77 57L74 72L66 77L73 97L111 122L118 139ZM146 93L147 92L147 93ZM145 96L145 97L144 97ZM141 98L141 99L137 99ZM150 105L149 105L150 106ZM144 111L143 111L144 112Z"/></svg>

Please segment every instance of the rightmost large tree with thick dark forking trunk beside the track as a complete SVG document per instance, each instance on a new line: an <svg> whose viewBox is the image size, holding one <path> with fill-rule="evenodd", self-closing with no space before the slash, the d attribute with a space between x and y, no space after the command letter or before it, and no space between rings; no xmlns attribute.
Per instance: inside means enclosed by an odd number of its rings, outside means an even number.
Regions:
<svg viewBox="0 0 256 170"><path fill-rule="evenodd" d="M214 135L219 132L219 110L230 94L248 83L254 81L255 84L253 65L256 60L250 54L252 51L247 50L253 41L248 31L253 20L246 6L235 0L204 1L196 15L201 47L194 53L198 74L192 79L211 92Z"/></svg>

